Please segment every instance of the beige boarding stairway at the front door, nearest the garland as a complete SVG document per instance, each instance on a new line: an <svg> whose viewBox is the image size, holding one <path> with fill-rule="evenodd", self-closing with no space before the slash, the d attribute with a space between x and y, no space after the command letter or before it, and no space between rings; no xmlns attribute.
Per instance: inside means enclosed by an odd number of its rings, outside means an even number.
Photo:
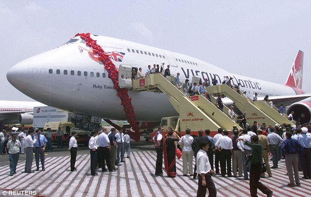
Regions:
<svg viewBox="0 0 311 197"><path fill-rule="evenodd" d="M165 93L180 115L181 131L186 128L194 131L206 128L217 131L219 127L231 130L235 124L203 95L189 98L161 74L150 74L144 78L134 79L132 90Z"/></svg>

